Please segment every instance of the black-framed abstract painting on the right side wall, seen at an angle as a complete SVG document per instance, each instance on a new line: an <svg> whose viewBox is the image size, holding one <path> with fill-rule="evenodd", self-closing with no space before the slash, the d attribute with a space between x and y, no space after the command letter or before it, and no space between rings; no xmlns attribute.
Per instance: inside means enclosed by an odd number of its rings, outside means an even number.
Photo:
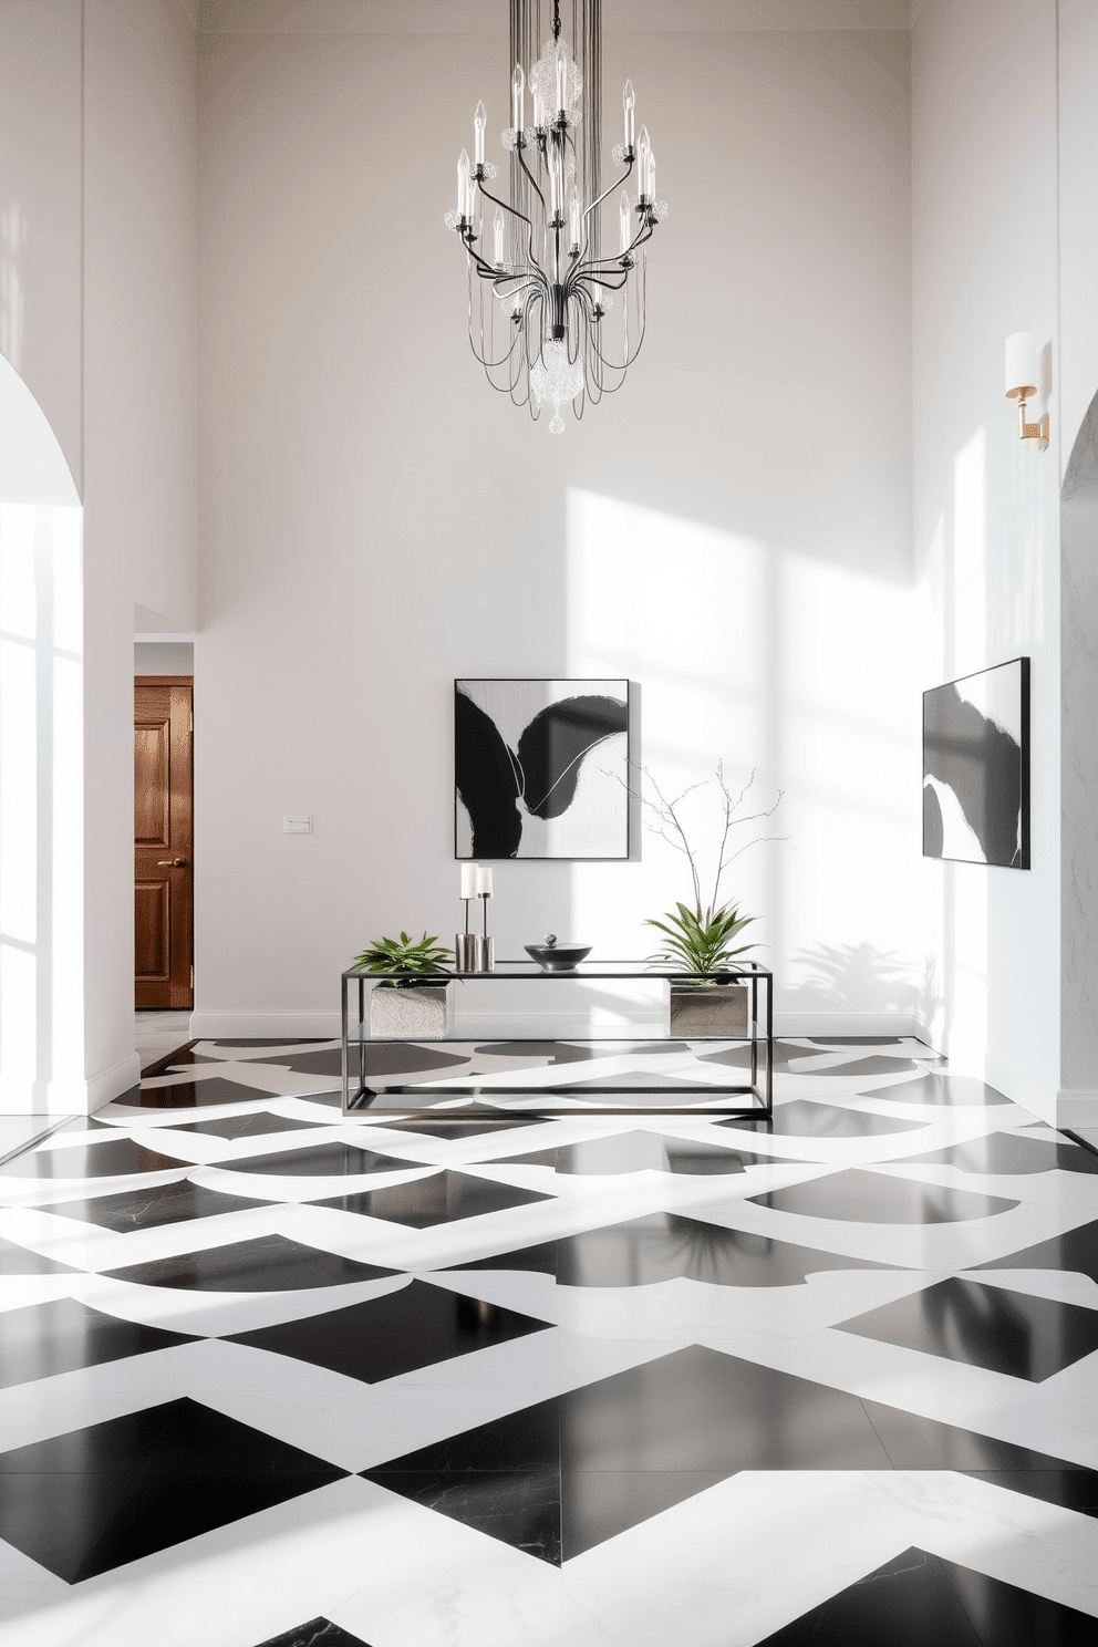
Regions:
<svg viewBox="0 0 1098 1647"><path fill-rule="evenodd" d="M1029 659L922 695L924 858L1029 868Z"/></svg>

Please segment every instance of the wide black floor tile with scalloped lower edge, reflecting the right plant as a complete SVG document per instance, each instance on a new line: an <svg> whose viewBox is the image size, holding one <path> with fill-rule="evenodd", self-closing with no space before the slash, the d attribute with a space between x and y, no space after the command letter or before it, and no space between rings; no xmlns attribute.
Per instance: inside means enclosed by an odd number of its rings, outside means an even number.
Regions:
<svg viewBox="0 0 1098 1647"><path fill-rule="evenodd" d="M700 1209L705 1214L705 1209ZM502 1252L454 1270L535 1270L560 1286L654 1286L686 1276L713 1286L800 1286L823 1270L881 1270L871 1258L770 1240L706 1224L705 1215L650 1212L560 1240Z"/></svg>

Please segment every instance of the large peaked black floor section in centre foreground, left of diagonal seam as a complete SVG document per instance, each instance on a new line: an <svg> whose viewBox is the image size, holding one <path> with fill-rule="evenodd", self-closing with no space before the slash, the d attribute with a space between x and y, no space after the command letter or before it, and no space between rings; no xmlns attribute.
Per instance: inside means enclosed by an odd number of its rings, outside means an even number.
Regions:
<svg viewBox="0 0 1098 1647"><path fill-rule="evenodd" d="M741 1469L887 1467L856 1397L691 1346L364 1474L512 1545L499 1486L523 1502L505 1476L537 1481L538 1528L560 1522L560 1551L520 1548L566 1561Z"/></svg>

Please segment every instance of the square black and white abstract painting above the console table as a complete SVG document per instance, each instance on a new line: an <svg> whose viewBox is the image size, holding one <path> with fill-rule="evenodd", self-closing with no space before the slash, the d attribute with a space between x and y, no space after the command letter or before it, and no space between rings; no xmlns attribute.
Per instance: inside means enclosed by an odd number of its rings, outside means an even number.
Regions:
<svg viewBox="0 0 1098 1647"><path fill-rule="evenodd" d="M458 858L627 858L627 680L454 682Z"/></svg>

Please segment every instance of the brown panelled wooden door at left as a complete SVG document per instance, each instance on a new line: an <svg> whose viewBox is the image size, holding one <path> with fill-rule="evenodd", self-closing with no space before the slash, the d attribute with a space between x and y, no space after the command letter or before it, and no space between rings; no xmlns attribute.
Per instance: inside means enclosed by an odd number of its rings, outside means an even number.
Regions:
<svg viewBox="0 0 1098 1647"><path fill-rule="evenodd" d="M194 682L133 682L133 998L194 1006Z"/></svg>

